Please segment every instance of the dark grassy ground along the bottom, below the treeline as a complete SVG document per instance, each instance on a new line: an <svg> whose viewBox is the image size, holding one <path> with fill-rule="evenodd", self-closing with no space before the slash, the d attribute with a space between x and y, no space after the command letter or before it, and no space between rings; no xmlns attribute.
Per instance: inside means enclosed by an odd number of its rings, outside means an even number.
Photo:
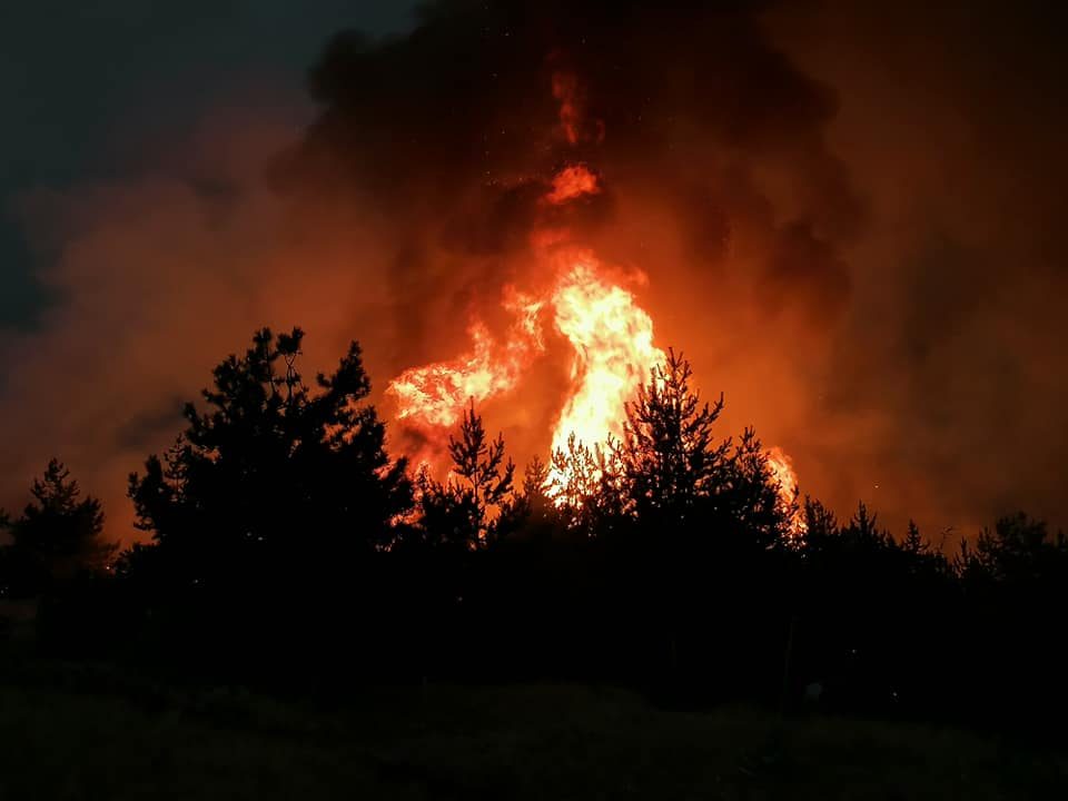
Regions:
<svg viewBox="0 0 1068 801"><path fill-rule="evenodd" d="M0 799L1058 799L1068 759L978 735L611 689L0 689Z"/></svg>

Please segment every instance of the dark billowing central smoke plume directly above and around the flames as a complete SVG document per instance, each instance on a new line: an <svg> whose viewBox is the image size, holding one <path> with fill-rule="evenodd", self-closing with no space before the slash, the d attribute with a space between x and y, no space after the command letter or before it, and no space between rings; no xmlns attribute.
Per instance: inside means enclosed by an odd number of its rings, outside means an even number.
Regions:
<svg viewBox="0 0 1068 801"><path fill-rule="evenodd" d="M392 358L411 366L457 353L457 322L492 315L503 284L538 280L530 235L546 222L546 180L589 164L605 191L567 212L578 238L647 274L660 340L686 352L709 392L726 390L732 428L759 423L784 441L849 303L842 249L867 209L825 142L833 89L777 48L760 10L443 2L387 46L338 36L312 73L319 119L276 179L387 220L403 243L388 278ZM548 444L554 377L524 390L524 405L545 397L533 417L513 421L508 399L488 411L521 455Z"/></svg>

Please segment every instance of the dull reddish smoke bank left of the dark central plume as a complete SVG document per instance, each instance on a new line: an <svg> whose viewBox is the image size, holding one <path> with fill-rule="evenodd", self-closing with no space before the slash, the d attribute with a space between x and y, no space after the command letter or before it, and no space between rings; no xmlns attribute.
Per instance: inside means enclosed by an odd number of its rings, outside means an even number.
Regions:
<svg viewBox="0 0 1068 801"><path fill-rule="evenodd" d="M58 299L39 330L0 345L2 505L57 455L129 540L128 474L174 442L184 403L255 329L306 324L309 373L336 364L354 320L374 329L370 222L295 209L264 177L300 129L288 112L218 111L137 180L21 198ZM318 227L297 225L313 214Z"/></svg>

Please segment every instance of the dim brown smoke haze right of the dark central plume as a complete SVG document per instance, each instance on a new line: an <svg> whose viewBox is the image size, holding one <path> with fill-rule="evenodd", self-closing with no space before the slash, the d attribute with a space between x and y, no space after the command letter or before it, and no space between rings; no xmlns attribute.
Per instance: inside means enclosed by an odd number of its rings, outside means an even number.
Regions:
<svg viewBox="0 0 1068 801"><path fill-rule="evenodd" d="M868 476L858 493L898 517L1068 522L1066 21L1045 2L820 2L772 19L833 81L828 141L872 201L822 419L868 421L843 453Z"/></svg>

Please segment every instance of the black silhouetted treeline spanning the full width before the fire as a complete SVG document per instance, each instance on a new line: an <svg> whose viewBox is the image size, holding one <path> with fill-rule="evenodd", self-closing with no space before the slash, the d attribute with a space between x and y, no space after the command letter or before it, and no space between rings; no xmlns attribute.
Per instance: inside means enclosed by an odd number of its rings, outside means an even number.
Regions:
<svg viewBox="0 0 1068 801"><path fill-rule="evenodd" d="M301 338L258 333L130 476L149 544L108 545L58 462L0 515L0 592L39 600L38 647L287 690L562 679L980 724L1068 710L1068 543L1040 522L947 554L863 505L840 522L784 498L674 353L621 441L521 478L472 407L442 482L386 453L358 346L306 383Z"/></svg>

